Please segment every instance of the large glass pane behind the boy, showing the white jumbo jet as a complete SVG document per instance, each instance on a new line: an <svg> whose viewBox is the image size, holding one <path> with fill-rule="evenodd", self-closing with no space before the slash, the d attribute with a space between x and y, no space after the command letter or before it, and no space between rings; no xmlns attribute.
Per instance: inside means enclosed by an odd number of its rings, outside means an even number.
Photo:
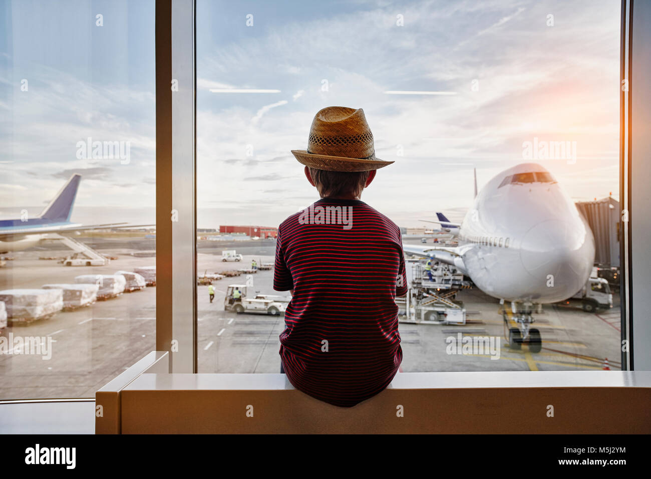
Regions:
<svg viewBox="0 0 651 479"><path fill-rule="evenodd" d="M374 153L395 162L361 201L408 253L402 371L618 368L618 291L589 283L610 268L616 283L618 220L578 209L619 210L620 6L328 5L197 1L199 371L279 371L294 303L273 289L274 237L320 199L291 151L309 149L328 106L363 108ZM378 242L359 248L361 282L385 259ZM331 271L342 267L313 274ZM280 314L235 301L234 287ZM345 310L329 313L346 321Z"/></svg>

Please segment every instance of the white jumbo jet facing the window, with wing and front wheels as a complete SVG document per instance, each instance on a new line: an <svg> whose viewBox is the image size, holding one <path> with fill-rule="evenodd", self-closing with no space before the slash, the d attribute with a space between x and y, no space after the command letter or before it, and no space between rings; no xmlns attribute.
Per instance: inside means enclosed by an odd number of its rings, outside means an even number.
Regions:
<svg viewBox="0 0 651 479"><path fill-rule="evenodd" d="M484 293L510 302L518 328L510 328L509 343L516 349L524 342L540 351L540 332L531 328L533 306L574 296L594 264L589 225L549 171L535 163L506 169L482 188L458 241L454 247L403 248L454 265Z"/></svg>

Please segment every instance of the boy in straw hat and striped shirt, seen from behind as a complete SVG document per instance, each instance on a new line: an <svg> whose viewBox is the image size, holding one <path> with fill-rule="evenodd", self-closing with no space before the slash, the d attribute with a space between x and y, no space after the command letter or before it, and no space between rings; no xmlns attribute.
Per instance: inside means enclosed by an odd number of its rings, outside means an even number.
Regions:
<svg viewBox="0 0 651 479"><path fill-rule="evenodd" d="M376 169L362 109L316 113L307 150L292 150L321 199L278 228L273 287L291 291L281 372L298 390L352 407L375 396L400 362L396 296L407 293L400 229L359 198Z"/></svg>

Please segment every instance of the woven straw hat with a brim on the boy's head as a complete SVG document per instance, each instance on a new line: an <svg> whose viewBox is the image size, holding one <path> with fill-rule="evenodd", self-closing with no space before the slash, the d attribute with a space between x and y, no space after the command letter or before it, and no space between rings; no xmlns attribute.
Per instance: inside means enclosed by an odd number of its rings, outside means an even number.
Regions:
<svg viewBox="0 0 651 479"><path fill-rule="evenodd" d="M328 171L368 171L393 163L376 158L364 110L345 106L329 106L316 113L307 150L292 153L305 166Z"/></svg>

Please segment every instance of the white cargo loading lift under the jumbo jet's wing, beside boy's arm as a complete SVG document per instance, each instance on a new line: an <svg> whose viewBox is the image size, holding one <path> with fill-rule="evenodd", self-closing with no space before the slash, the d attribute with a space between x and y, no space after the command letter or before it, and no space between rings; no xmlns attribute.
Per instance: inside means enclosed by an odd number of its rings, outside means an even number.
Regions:
<svg viewBox="0 0 651 479"><path fill-rule="evenodd" d="M465 324L464 305L454 298L471 283L464 280L459 270L433 261L428 273L419 259L406 259L405 267L407 295L396 298L401 323Z"/></svg>

